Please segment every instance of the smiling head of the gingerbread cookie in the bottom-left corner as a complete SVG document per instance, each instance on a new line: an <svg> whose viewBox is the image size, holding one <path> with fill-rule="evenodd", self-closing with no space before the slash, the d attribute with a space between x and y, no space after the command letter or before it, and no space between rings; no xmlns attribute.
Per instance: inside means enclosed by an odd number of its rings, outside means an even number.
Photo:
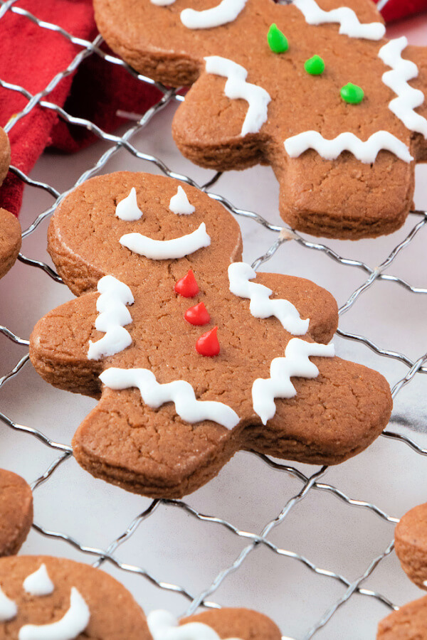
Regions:
<svg viewBox="0 0 427 640"><path fill-rule="evenodd" d="M55 623L58 635L51 630L46 637L152 640L144 613L131 594L110 575L89 565L48 556L2 558L0 586L11 601L9 607L4 602L0 605L1 640L17 640L26 625ZM68 618L73 626L68 620L58 628L70 608ZM27 629L26 639L43 637L43 629L37 631L38 635L31 635Z"/></svg>

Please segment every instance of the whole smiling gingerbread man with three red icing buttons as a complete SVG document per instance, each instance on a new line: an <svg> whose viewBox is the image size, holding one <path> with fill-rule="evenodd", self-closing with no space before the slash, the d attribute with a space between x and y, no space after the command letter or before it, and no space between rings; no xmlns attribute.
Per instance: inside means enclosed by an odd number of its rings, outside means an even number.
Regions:
<svg viewBox="0 0 427 640"><path fill-rule="evenodd" d="M389 420L386 380L326 344L332 296L239 262L238 224L193 187L93 178L60 203L48 250L80 297L38 321L31 361L49 383L101 397L73 439L96 477L181 497L238 449L337 464Z"/></svg>

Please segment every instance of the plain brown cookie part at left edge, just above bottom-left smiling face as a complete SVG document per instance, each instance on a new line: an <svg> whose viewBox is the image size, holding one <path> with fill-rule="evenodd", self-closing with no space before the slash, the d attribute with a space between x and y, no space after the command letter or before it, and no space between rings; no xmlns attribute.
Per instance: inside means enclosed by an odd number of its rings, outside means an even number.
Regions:
<svg viewBox="0 0 427 640"><path fill-rule="evenodd" d="M18 553L33 524L33 494L26 481L0 469L0 556Z"/></svg>

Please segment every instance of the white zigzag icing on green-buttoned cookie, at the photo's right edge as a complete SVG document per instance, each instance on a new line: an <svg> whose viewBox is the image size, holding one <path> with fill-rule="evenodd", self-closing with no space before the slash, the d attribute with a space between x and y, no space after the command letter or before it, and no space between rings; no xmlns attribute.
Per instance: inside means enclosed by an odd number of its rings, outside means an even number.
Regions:
<svg viewBox="0 0 427 640"><path fill-rule="evenodd" d="M391 100L389 109L401 120L407 129L423 134L427 138L427 119L416 113L414 109L421 107L425 96L419 89L408 85L408 80L418 77L418 67L411 60L401 57L408 46L408 38L394 38L379 50L379 58L392 68L382 76L384 85L390 87L397 97Z"/></svg>

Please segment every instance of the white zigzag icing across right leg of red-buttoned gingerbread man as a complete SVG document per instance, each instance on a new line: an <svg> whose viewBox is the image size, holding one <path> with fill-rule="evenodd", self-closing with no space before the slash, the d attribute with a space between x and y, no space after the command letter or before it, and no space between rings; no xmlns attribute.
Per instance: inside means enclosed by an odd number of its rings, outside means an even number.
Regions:
<svg viewBox="0 0 427 640"><path fill-rule="evenodd" d="M257 378L252 385L253 410L267 424L276 411L275 398L293 398L297 395L290 378L317 378L319 369L308 358L309 356L334 356L333 344L305 342L300 338L292 338L286 348L284 358L274 358L270 364L270 378Z"/></svg>

